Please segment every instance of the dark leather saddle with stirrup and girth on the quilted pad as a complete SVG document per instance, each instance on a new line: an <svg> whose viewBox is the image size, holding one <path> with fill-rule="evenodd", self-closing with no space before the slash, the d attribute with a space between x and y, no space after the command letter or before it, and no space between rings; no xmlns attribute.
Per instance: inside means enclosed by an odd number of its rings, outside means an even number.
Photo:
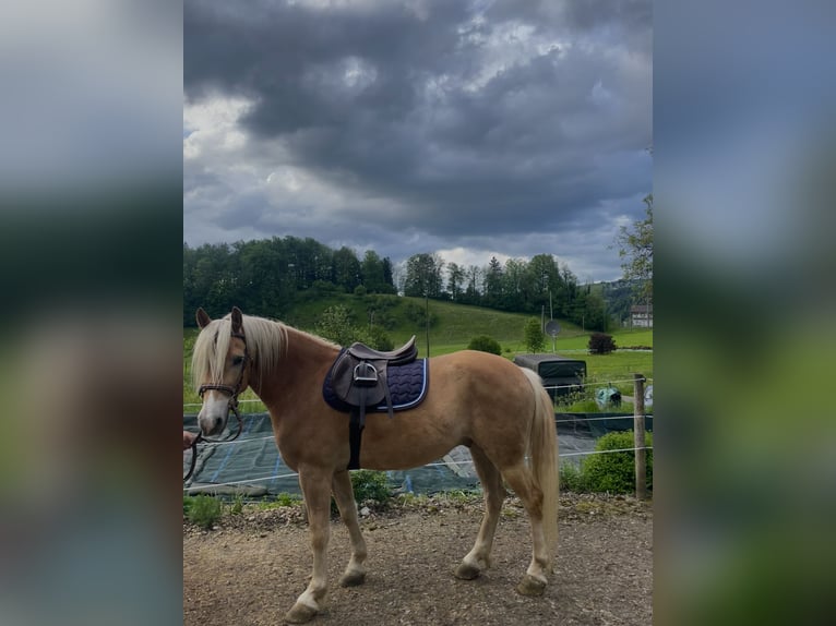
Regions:
<svg viewBox="0 0 836 626"><path fill-rule="evenodd" d="M363 344L351 344L337 357L331 369L334 395L350 407L349 441L351 458L348 469L359 468L360 437L366 428L367 409L374 410L385 400L393 418L386 370L389 365L406 365L418 358L415 335L397 350L381 352Z"/></svg>

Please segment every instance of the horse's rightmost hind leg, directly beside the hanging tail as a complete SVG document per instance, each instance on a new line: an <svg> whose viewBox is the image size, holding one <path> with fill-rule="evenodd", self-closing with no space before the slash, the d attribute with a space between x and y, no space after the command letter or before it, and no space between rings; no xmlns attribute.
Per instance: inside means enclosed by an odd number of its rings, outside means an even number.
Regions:
<svg viewBox="0 0 836 626"><path fill-rule="evenodd" d="M549 550L546 542L542 514L542 492L535 485L530 470L524 462L505 468L502 475L523 501L528 519L532 522L532 543L534 544L532 563L516 590L523 595L540 595L546 589L549 569Z"/></svg>

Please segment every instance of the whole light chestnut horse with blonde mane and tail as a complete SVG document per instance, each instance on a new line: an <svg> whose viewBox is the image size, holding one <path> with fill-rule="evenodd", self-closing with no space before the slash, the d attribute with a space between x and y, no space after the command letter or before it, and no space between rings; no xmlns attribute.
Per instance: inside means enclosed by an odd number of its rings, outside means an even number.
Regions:
<svg viewBox="0 0 836 626"><path fill-rule="evenodd" d="M327 591L332 493L351 543L339 582L354 586L366 578L366 542L346 469L348 416L331 408L322 394L341 348L280 322L243 315L238 308L215 321L200 309L198 324L202 330L194 344L192 374L203 396L198 418L202 433L222 432L238 394L249 386L270 410L283 460L299 473L313 574L286 619L307 622L322 610ZM463 350L429 361L429 390L417 408L394 419L385 412L366 417L360 466L415 468L457 445L467 446L485 492L485 516L455 576L473 579L489 567L506 495L504 479L532 523L532 562L517 591L539 595L557 543L558 442L551 400L536 374L502 357Z"/></svg>

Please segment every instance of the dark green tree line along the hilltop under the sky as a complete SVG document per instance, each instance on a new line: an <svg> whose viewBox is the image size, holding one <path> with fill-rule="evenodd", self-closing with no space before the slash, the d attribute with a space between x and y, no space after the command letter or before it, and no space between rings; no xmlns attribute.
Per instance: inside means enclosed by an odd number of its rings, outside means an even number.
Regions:
<svg viewBox="0 0 836 626"><path fill-rule="evenodd" d="M253 315L286 317L311 292L403 293L516 313L542 313L592 330L607 330L605 302L580 286L551 254L530 261L491 257L487 265L446 263L437 253L410 256L401 267L373 250L362 256L311 238L274 237L236 243L183 243L183 324L203 306L223 314L238 305Z"/></svg>

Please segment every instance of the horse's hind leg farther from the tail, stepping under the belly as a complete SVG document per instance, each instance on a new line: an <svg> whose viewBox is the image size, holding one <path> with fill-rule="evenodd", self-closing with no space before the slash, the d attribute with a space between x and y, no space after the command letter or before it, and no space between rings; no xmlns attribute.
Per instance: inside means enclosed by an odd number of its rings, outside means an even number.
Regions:
<svg viewBox="0 0 836 626"><path fill-rule="evenodd" d="M479 527L479 534L473 550L462 559L455 570L456 578L471 580L490 567L490 552L493 546L493 535L497 532L497 522L505 499L505 487L502 484L502 475L497 466L485 455L481 448L470 447L470 456L474 459L476 473L485 492L485 515Z"/></svg>

